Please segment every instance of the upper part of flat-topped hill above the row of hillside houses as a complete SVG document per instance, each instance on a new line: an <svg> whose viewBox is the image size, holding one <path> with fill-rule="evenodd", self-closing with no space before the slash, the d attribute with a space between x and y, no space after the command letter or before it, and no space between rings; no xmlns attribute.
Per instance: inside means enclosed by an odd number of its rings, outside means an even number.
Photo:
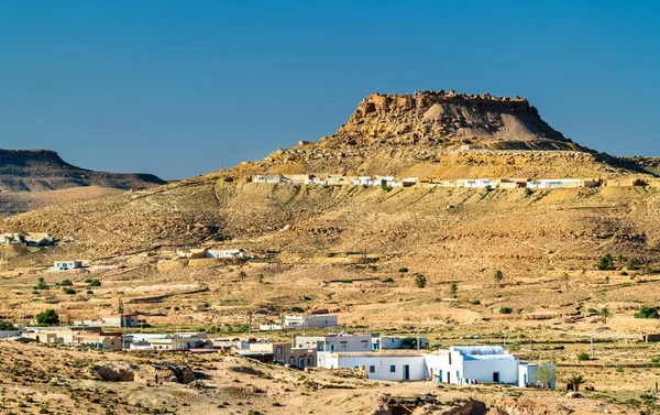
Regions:
<svg viewBox="0 0 660 415"><path fill-rule="evenodd" d="M238 171L435 178L651 173L639 161L574 143L525 98L441 90L372 94L334 134L277 150Z"/></svg>

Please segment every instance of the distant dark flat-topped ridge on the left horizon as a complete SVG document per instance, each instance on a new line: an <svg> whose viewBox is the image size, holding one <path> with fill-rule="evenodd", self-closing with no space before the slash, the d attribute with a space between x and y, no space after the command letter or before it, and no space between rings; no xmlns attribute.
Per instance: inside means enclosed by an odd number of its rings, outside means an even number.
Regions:
<svg viewBox="0 0 660 415"><path fill-rule="evenodd" d="M94 172L66 163L48 150L0 150L0 190L57 190L79 186L129 189L161 185L151 174Z"/></svg>

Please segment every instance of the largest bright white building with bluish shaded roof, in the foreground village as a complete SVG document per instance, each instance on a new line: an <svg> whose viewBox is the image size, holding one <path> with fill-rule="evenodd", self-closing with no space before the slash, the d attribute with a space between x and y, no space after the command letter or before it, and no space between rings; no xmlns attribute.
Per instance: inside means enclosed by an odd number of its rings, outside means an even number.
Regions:
<svg viewBox="0 0 660 415"><path fill-rule="evenodd" d="M427 372L436 382L453 384L518 384L518 360L501 346L450 347L425 354Z"/></svg>

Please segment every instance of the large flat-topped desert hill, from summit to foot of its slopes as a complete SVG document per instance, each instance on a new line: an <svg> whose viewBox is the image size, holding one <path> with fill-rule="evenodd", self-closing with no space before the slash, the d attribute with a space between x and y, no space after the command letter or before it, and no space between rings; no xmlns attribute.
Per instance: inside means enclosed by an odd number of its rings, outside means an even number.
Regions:
<svg viewBox="0 0 660 415"><path fill-rule="evenodd" d="M457 149L461 145L479 149ZM452 245L459 256L472 256L481 247L509 260L540 260L548 252L595 258L605 250L653 256L660 241L660 222L651 214L658 204L654 188L540 190L532 196L522 189L384 193L361 186L260 185L249 177L266 172L651 177L656 166L650 159L618 159L573 143L521 98L374 94L336 134L317 143L135 194L18 215L0 226L66 237L77 241L68 250L89 258L226 240L240 240L255 252L354 251L359 240L361 249L378 254L428 250L443 256ZM287 225L289 230L279 232Z"/></svg>

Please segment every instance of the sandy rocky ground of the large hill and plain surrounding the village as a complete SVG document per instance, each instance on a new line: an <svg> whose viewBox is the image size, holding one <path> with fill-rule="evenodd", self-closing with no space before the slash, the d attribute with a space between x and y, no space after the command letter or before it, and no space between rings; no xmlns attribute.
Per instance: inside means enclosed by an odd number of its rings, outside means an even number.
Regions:
<svg viewBox="0 0 660 415"><path fill-rule="evenodd" d="M210 392L184 393L172 385L150 390L141 374L151 373L144 357L125 362L135 365L136 378L119 386L67 375L61 371L63 362L53 363L53 373L63 373L72 385L59 394L65 405L84 395L99 400L94 404L98 411L112 404L118 414L130 413L138 402L148 411L170 407L174 396L185 395L176 402L190 408L177 403L173 412L320 414L341 408L378 415L387 409L384 392L441 395L439 404L420 407L419 414L653 413L657 397L648 391L660 375L652 360L660 349L640 339L660 326L635 314L645 305L658 306L658 187L385 189L256 184L249 177L306 172L438 178L634 176L651 182L657 170L651 157L614 157L573 143L524 99L372 95L336 134L317 143L302 142L264 161L188 181L46 204L4 218L2 231L50 232L63 243L1 250L0 316L16 320L24 313L31 318L54 307L64 320L94 318L111 313L122 299L128 310L140 313L156 329L175 326L238 337L249 315L265 323L294 312L330 312L352 329L424 334L433 347L504 341L520 359L557 362L560 384L581 373L595 386L585 392L586 400L571 401L559 391L339 383L327 373L292 375L260 368L274 378L270 380L235 374L230 368L239 363L232 358L213 357L188 360L196 370L206 369L213 382ZM243 248L251 259L226 263L177 258L176 250L194 247ZM612 266L597 269L607 254ZM62 274L46 271L63 259L90 265L66 274L74 294L56 287ZM504 275L497 284L495 270ZM425 276L422 287L417 285L419 274ZM34 288L38 277L51 288ZM90 277L101 286L88 292L85 280ZM610 313L605 321L602 309ZM596 359L579 361L578 353L588 351L591 334ZM8 354L13 347L6 348ZM35 361L54 356L53 350L40 353L38 347L30 350ZM88 359L87 368L97 357L85 353L77 359ZM31 411L56 396L57 385L41 384L47 382L45 374L32 376L43 382L24 389L14 385L29 382L25 376L9 375L15 382L6 390L14 401L4 405L12 411L16 396L28 398L25 391L37 402L28 403ZM231 397L230 382L246 387L243 395ZM290 391L283 394L283 386ZM481 406L468 402L470 397ZM228 407L212 406L224 402Z"/></svg>

